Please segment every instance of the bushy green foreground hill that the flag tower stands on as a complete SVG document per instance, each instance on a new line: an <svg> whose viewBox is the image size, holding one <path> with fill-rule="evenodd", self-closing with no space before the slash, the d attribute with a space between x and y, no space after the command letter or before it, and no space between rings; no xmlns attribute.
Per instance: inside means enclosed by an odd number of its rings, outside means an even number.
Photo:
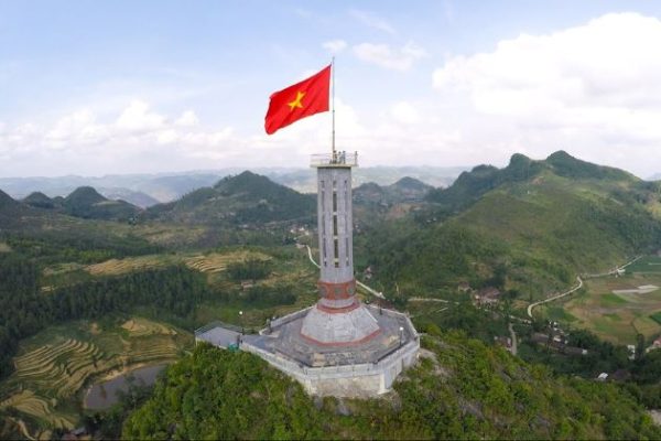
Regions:
<svg viewBox="0 0 661 441"><path fill-rule="evenodd" d="M438 334L437 334L438 335ZM423 338L383 398L313 399L248 353L199 345L124 422L128 439L658 439L614 384L554 377L462 334ZM209 387L209 385L213 385Z"/></svg>

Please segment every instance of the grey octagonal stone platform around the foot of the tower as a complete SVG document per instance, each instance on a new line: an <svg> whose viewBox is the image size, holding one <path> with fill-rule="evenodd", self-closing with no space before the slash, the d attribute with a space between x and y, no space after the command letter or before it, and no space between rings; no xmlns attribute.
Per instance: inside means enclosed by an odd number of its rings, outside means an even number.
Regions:
<svg viewBox="0 0 661 441"><path fill-rule="evenodd" d="M245 335L241 349L251 352L299 380L312 395L372 397L391 389L394 378L413 364L420 336L405 314L364 306L379 332L365 342L334 346L301 334L315 306L271 323L259 335Z"/></svg>

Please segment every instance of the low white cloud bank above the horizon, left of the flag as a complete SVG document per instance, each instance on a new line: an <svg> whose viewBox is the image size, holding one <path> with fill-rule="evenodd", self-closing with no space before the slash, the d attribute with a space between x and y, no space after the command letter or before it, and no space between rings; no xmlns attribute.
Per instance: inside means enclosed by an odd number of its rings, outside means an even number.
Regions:
<svg viewBox="0 0 661 441"><path fill-rule="evenodd" d="M204 128L193 110L176 119L133 100L99 121L88 108L65 115L52 125L0 127L0 155L14 164L0 173L52 175L105 174L209 168L243 151L230 127ZM153 169L152 169L153 168Z"/></svg>

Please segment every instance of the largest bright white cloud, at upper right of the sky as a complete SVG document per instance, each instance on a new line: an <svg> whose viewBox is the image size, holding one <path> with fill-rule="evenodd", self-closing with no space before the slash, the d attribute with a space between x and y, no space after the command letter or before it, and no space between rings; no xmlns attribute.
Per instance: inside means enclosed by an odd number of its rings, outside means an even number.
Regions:
<svg viewBox="0 0 661 441"><path fill-rule="evenodd" d="M498 125L501 142L533 154L567 148L608 163L626 149L641 168L661 143L659 41L660 20L611 13L501 41L490 53L451 57L434 72L433 85L442 99L470 104L464 119L484 139L494 139L489 131Z"/></svg>

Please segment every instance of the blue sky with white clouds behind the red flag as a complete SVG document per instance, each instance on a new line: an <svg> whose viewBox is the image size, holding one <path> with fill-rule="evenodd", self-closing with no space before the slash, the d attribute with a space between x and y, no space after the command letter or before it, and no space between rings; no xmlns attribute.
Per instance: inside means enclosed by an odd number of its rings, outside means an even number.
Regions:
<svg viewBox="0 0 661 441"><path fill-rule="evenodd" d="M333 53L338 143L367 165L562 148L648 176L660 15L649 1L0 2L0 176L305 166L328 116L267 137L268 96Z"/></svg>

